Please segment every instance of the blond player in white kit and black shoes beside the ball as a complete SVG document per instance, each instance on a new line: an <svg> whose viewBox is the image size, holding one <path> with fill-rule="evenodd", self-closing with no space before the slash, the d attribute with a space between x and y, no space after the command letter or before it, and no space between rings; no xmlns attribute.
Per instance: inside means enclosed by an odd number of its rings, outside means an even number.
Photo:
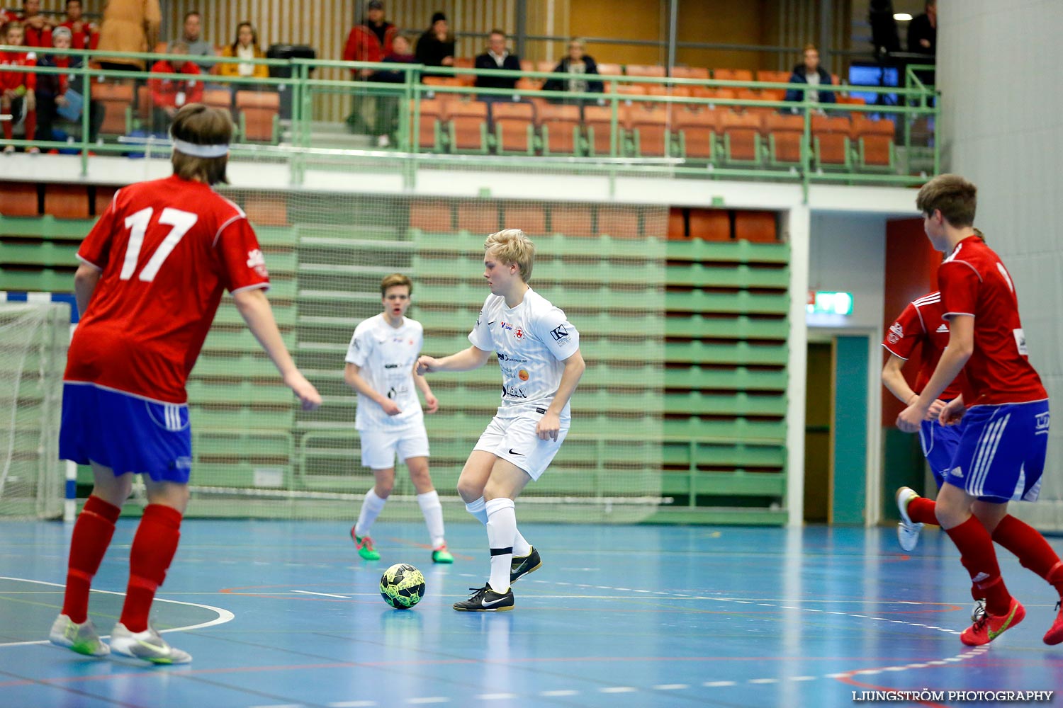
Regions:
<svg viewBox="0 0 1063 708"><path fill-rule="evenodd" d="M569 399L584 374L579 332L528 287L535 246L517 228L492 234L484 244L484 277L491 289L468 349L418 359L419 374L468 372L497 352L502 403L469 455L458 494L487 525L491 576L459 611L513 608L510 584L542 565L539 552L517 530L513 500L538 480L569 432Z"/></svg>

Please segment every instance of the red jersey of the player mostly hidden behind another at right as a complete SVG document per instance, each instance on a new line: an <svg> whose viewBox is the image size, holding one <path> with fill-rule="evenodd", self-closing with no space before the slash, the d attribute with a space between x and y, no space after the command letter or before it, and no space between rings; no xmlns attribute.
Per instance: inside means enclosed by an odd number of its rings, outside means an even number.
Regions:
<svg viewBox="0 0 1063 708"><path fill-rule="evenodd" d="M914 391L919 393L933 376L934 368L942 352L948 346L948 324L942 318L945 309L941 303L941 293L930 293L912 300L900 313L897 321L890 325L882 346L904 360L912 358L915 347L919 348L918 373L915 375ZM956 377L942 392L942 400L952 400L963 393L964 376Z"/></svg>

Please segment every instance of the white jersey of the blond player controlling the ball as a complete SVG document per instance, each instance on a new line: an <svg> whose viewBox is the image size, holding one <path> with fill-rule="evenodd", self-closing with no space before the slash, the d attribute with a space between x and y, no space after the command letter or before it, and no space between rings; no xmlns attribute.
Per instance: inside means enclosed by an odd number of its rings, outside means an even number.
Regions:
<svg viewBox="0 0 1063 708"><path fill-rule="evenodd" d="M546 412L561 383L563 360L579 348L579 332L560 308L529 288L514 308L507 308L502 295L488 295L469 341L497 353L502 368L497 414L516 417ZM570 417L568 403L560 417Z"/></svg>

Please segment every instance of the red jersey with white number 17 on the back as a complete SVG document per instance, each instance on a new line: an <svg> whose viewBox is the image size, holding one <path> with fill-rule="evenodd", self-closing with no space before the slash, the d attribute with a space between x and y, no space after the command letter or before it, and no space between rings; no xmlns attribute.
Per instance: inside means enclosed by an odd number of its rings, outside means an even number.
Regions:
<svg viewBox="0 0 1063 708"><path fill-rule="evenodd" d="M178 176L119 190L78 258L101 276L64 379L166 403L187 399L222 291L269 287L239 207Z"/></svg>

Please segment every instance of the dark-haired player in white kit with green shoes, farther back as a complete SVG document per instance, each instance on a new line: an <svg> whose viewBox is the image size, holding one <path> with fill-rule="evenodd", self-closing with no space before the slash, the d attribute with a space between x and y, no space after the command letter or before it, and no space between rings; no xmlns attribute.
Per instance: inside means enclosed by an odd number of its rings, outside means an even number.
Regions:
<svg viewBox="0 0 1063 708"><path fill-rule="evenodd" d="M415 373L424 329L406 317L412 283L394 273L381 281L384 312L361 321L347 350L343 380L358 392L354 427L361 436L361 464L373 470L375 483L361 502L351 538L358 555L378 560L369 532L395 483L395 454L405 461L417 489L417 503L424 514L432 538L433 563L454 563L443 538L443 507L428 476L428 435L417 390L424 395L428 413L439 401L424 377Z"/></svg>

